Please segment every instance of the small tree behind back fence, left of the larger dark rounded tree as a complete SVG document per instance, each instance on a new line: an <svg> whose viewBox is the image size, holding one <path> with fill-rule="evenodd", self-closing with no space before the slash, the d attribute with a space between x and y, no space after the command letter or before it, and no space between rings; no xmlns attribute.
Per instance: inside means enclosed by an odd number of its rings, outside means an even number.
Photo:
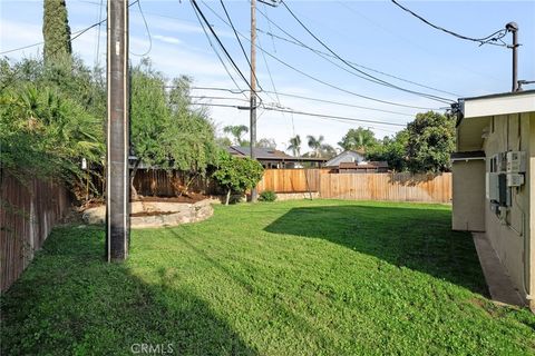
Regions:
<svg viewBox="0 0 535 356"><path fill-rule="evenodd" d="M369 160L387 161L388 167L396 171L408 169L407 144L409 135L406 129L396 134L393 138L385 137L378 145L371 147L366 157Z"/></svg>

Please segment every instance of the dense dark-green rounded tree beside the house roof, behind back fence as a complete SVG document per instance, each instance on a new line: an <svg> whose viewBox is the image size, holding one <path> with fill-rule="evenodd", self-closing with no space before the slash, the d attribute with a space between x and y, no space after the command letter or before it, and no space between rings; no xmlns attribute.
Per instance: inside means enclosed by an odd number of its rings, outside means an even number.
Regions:
<svg viewBox="0 0 535 356"><path fill-rule="evenodd" d="M451 169L455 150L455 119L428 111L418 113L407 126L408 167L410 171L439 172Z"/></svg>

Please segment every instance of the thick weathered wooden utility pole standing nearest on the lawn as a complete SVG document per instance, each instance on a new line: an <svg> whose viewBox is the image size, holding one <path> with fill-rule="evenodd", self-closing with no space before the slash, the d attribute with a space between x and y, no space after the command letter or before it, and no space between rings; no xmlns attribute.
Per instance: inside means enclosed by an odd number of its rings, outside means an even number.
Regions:
<svg viewBox="0 0 535 356"><path fill-rule="evenodd" d="M106 258L123 261L129 245L128 0L108 0Z"/></svg>

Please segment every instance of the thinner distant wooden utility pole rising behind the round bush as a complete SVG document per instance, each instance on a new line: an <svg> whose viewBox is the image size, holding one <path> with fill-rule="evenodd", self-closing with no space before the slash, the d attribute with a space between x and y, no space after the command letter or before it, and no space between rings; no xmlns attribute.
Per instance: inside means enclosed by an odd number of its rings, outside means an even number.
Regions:
<svg viewBox="0 0 535 356"><path fill-rule="evenodd" d="M254 145L256 142L256 0L251 0L251 159L256 159ZM251 202L257 199L256 187L251 189Z"/></svg>

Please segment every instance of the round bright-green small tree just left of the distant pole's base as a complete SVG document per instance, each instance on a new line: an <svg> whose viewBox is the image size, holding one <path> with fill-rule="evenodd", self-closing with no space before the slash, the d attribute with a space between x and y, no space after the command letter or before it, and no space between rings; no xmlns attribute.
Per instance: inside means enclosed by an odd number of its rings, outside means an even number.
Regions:
<svg viewBox="0 0 535 356"><path fill-rule="evenodd" d="M254 188L262 179L264 169L262 165L249 157L234 157L221 150L217 161L217 170L213 178L226 188L225 205L228 205L231 192L243 194Z"/></svg>

